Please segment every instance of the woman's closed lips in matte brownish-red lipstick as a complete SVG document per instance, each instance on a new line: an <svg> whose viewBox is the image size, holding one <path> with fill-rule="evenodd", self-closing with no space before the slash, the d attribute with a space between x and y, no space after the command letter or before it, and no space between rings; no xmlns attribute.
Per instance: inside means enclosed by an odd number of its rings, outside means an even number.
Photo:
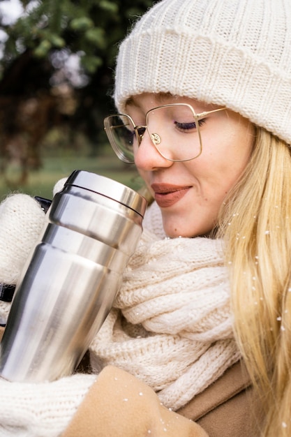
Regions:
<svg viewBox="0 0 291 437"><path fill-rule="evenodd" d="M172 184L152 184L154 197L159 207L171 207L188 193L191 186L179 186Z"/></svg>

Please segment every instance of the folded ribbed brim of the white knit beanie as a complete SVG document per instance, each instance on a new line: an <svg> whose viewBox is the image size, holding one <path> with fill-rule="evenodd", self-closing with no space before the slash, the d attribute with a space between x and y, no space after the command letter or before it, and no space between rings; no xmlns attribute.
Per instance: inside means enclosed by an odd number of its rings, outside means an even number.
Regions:
<svg viewBox="0 0 291 437"><path fill-rule="evenodd" d="M126 38L118 64L114 99L121 113L131 96L168 92L226 106L291 142L291 75L245 48L182 29L155 29Z"/></svg>

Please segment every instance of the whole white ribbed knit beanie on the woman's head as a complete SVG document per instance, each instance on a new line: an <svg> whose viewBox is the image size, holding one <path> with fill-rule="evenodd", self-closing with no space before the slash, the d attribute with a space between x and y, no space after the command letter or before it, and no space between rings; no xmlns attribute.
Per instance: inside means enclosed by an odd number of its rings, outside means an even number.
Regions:
<svg viewBox="0 0 291 437"><path fill-rule="evenodd" d="M291 143L291 1L162 0L121 43L114 99L223 105Z"/></svg>

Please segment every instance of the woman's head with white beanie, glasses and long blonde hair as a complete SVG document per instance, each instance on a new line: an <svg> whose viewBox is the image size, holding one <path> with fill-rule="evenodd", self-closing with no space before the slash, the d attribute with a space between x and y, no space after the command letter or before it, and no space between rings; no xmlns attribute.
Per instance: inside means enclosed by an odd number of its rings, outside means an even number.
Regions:
<svg viewBox="0 0 291 437"><path fill-rule="evenodd" d="M290 434L290 14L285 1L161 1L119 50L114 98L135 135L105 121L166 235L225 241L235 337L268 436Z"/></svg>

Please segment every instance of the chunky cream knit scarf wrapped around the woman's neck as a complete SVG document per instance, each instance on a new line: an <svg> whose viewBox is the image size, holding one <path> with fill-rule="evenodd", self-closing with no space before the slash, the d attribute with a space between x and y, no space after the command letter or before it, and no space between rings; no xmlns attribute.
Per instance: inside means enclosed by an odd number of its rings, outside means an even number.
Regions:
<svg viewBox="0 0 291 437"><path fill-rule="evenodd" d="M93 369L119 366L173 410L219 378L240 357L221 241L144 230L90 352Z"/></svg>

